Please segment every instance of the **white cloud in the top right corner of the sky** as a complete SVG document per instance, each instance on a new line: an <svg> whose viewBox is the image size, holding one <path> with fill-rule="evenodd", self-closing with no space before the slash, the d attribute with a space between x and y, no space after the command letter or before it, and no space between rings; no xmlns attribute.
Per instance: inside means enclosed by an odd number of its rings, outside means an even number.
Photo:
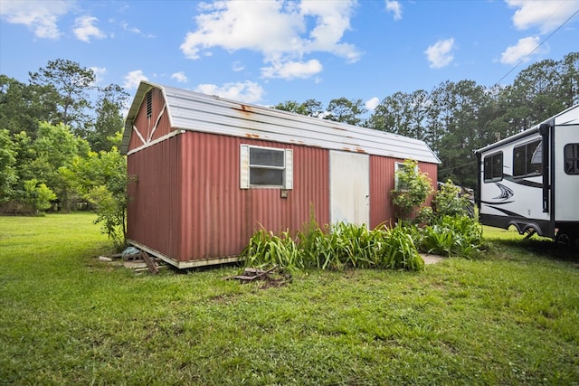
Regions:
<svg viewBox="0 0 579 386"><path fill-rule="evenodd" d="M579 0L506 0L517 8L513 24L519 30L538 27L540 33L550 33L579 10Z"/></svg>

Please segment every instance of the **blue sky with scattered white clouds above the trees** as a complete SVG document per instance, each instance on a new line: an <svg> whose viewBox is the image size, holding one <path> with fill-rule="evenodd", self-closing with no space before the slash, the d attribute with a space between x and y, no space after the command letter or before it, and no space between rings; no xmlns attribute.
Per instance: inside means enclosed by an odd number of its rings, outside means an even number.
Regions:
<svg viewBox="0 0 579 386"><path fill-rule="evenodd" d="M139 80L261 105L362 99L442 81L511 83L579 51L579 0L0 0L0 73L66 59L134 95ZM538 46L538 48L537 48Z"/></svg>

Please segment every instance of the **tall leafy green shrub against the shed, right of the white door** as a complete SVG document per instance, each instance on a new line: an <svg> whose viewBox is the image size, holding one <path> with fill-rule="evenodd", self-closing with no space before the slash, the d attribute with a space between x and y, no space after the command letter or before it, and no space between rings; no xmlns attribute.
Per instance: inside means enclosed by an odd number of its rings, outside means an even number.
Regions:
<svg viewBox="0 0 579 386"><path fill-rule="evenodd" d="M409 220L432 193L432 181L418 169L418 161L407 159L396 170L396 187L390 193L396 217Z"/></svg>

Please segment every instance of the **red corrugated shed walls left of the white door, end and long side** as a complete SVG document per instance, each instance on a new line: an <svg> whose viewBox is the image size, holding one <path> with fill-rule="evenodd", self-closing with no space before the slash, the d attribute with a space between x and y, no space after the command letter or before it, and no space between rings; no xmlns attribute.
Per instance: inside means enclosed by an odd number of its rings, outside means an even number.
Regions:
<svg viewBox="0 0 579 386"><path fill-rule="evenodd" d="M240 189L240 145L293 150L293 189ZM179 262L236 256L254 231L329 221L327 150L187 131L128 156L128 238Z"/></svg>

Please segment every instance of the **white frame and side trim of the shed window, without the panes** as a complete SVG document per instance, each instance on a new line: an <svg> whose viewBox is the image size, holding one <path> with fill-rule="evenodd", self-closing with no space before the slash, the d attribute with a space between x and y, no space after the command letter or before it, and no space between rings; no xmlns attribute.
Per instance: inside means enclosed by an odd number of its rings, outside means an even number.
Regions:
<svg viewBox="0 0 579 386"><path fill-rule="evenodd" d="M250 164L250 149L260 148L266 150L272 150L277 152L283 152L284 154L284 165L283 166L267 166L267 165L251 165ZM283 184L281 185L265 185L265 184L250 184L252 167L259 168L271 168L283 171ZM240 146L240 189L293 189L293 150L284 149L280 147L267 147L267 146L252 146L252 145L241 145Z"/></svg>

